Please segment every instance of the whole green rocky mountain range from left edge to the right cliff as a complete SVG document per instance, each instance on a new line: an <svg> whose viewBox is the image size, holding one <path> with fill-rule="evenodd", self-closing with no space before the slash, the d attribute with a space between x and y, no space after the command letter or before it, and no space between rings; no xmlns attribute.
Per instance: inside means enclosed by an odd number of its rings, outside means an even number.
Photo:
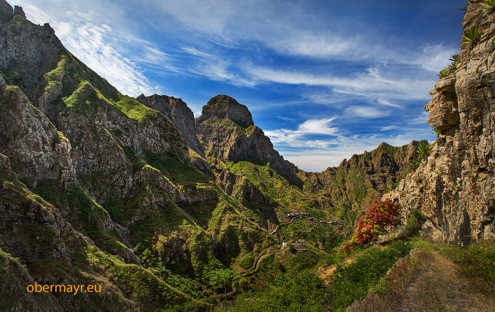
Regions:
<svg viewBox="0 0 495 312"><path fill-rule="evenodd" d="M383 143L322 173L298 170L232 97L213 97L195 120L181 99L123 95L49 24L31 23L5 0L0 36L7 310L210 310L201 301L213 295L209 272L239 269L244 257L292 239L277 231L287 212L350 224L411 170L416 141ZM309 243L328 252L339 235L328 227ZM164 267L194 291L170 284ZM105 296L18 291L33 280L101 283Z"/></svg>

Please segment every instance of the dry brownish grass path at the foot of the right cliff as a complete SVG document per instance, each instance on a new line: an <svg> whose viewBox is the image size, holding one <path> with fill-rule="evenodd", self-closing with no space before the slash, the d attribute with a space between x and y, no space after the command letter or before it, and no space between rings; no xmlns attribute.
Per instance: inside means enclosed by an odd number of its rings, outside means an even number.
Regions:
<svg viewBox="0 0 495 312"><path fill-rule="evenodd" d="M384 293L370 293L353 312L494 312L494 298L471 292L459 268L430 247L403 259Z"/></svg>

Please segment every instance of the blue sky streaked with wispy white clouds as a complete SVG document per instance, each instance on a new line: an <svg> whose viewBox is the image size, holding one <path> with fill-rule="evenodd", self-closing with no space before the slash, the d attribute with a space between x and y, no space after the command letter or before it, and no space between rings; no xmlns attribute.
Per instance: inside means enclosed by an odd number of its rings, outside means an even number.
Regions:
<svg viewBox="0 0 495 312"><path fill-rule="evenodd" d="M247 105L284 158L338 166L433 140L423 107L458 53L464 1L17 0L122 93Z"/></svg>

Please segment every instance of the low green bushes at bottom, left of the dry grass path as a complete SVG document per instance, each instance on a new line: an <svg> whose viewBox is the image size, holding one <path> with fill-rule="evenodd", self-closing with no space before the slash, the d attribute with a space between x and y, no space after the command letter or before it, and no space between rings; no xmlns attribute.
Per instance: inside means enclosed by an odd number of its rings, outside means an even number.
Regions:
<svg viewBox="0 0 495 312"><path fill-rule="evenodd" d="M398 241L384 250L372 248L350 264L340 263L330 287L314 270L294 269L269 274L270 278L260 291L248 291L238 296L237 311L309 312L330 309L343 312L354 300L365 297L397 259L406 256L411 249L410 243Z"/></svg>

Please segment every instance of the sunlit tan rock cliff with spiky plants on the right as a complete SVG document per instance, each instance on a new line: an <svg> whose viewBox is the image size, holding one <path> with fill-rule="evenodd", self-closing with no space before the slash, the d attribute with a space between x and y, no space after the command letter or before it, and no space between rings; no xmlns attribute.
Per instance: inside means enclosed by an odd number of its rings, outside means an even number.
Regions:
<svg viewBox="0 0 495 312"><path fill-rule="evenodd" d="M495 14L471 1L462 26L479 27L474 44L461 45L461 63L430 90L428 124L441 133L418 170L387 194L405 208L420 208L424 230L467 245L495 237Z"/></svg>

